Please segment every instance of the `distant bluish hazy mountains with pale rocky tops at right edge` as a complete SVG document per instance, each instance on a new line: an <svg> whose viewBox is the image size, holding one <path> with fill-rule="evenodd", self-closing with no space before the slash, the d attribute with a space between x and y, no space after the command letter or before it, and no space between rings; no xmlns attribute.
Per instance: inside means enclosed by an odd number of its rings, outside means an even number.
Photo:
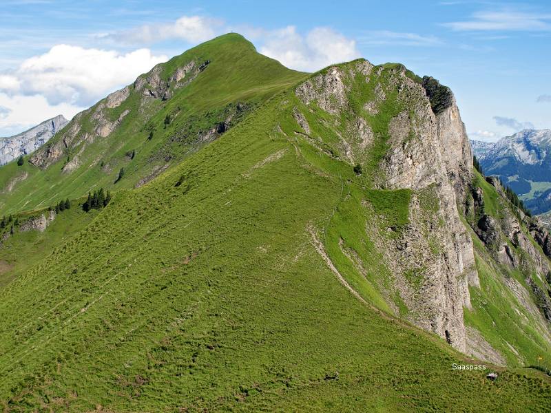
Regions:
<svg viewBox="0 0 551 413"><path fill-rule="evenodd" d="M471 145L486 175L499 176L533 213L551 210L551 129L526 129Z"/></svg>

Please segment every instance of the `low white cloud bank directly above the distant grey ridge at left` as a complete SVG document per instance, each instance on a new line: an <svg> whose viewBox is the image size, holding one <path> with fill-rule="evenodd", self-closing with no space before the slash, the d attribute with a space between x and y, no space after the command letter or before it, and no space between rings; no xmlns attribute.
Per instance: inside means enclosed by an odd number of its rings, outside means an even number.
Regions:
<svg viewBox="0 0 551 413"><path fill-rule="evenodd" d="M83 109L68 103L50 105L44 96L39 95L8 96L0 93L0 136L18 134L59 114L70 119Z"/></svg>

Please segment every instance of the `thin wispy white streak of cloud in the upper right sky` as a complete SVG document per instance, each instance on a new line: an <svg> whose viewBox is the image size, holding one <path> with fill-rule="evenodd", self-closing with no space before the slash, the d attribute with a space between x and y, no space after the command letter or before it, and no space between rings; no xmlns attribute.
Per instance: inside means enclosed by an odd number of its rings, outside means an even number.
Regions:
<svg viewBox="0 0 551 413"><path fill-rule="evenodd" d="M454 21L443 25L457 32L511 30L547 31L551 30L551 14L537 14L504 10L499 12L476 12L466 21Z"/></svg>

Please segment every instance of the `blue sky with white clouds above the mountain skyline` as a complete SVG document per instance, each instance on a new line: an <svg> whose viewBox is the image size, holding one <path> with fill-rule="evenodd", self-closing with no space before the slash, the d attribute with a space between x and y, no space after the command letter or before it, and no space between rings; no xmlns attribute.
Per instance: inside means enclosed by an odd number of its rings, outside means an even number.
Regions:
<svg viewBox="0 0 551 413"><path fill-rule="evenodd" d="M240 32L298 70L362 56L449 85L472 138L551 128L548 1L0 3L0 136L66 117L153 65Z"/></svg>

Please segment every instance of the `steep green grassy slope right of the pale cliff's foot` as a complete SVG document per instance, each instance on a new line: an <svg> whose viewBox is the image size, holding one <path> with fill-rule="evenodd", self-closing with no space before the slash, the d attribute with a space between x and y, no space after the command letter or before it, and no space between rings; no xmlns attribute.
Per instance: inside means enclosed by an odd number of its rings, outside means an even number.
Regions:
<svg viewBox="0 0 551 413"><path fill-rule="evenodd" d="M519 213L478 171L474 171L472 187L482 191L484 213L497 222ZM468 216L473 227L478 219L479 216ZM534 242L523 223L520 230L541 256L544 256L541 247ZM515 294L518 289L511 288L511 284L522 286L528 292L528 297L534 299L526 281L527 275L531 275L540 288L546 288L545 281L535 275L536 264L521 248L515 247L508 240L505 242L519 254L523 268L511 268L499 261L496 262L492 256L492 246L485 245L476 233L472 232L471 235L475 241L475 257L481 286L470 288L473 308L466 310L466 324L477 328L510 365L534 365L537 363L537 356L542 354L547 358L548 354L551 354L551 343L548 340L548 332L542 331L537 322L541 315L537 311L532 313L524 307L521 304L524 297Z"/></svg>

